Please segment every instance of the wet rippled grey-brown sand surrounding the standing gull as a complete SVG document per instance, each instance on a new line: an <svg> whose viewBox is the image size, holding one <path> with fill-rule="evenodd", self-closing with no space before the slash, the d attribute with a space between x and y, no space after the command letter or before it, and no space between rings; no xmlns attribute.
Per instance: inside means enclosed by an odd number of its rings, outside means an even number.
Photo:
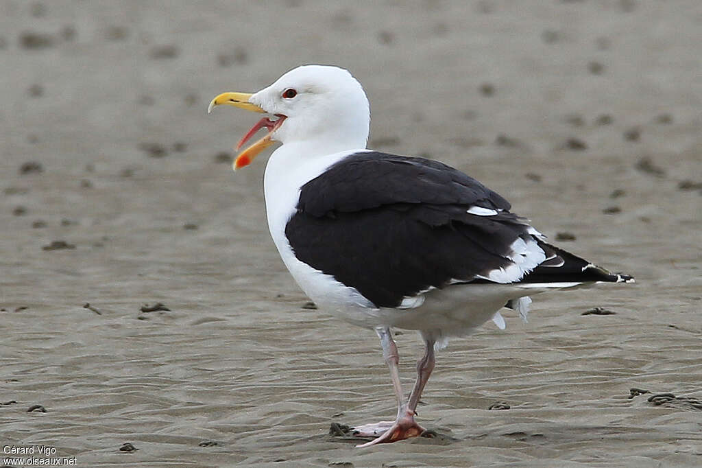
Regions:
<svg viewBox="0 0 702 468"><path fill-rule="evenodd" d="M4 445L86 467L702 464L700 405L675 398L702 398L697 1L197 3L0 3ZM264 158L227 164L255 117L206 115L301 63L364 84L371 148L466 171L637 284L453 340L418 417L438 438L329 436L394 415L380 346L303 308ZM420 341L397 339L409 385Z"/></svg>

